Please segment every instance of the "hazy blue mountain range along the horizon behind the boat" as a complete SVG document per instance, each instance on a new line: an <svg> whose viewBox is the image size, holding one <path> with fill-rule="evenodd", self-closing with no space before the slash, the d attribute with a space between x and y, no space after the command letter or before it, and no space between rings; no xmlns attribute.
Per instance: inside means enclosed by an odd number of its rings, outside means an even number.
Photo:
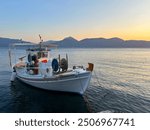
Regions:
<svg viewBox="0 0 150 130"><path fill-rule="evenodd" d="M20 39L0 38L0 47L8 47L12 43L27 42ZM73 37L67 37L60 41L45 41L43 44L55 44L59 48L150 48L150 41L144 40L123 40L114 38L86 38L76 40Z"/></svg>

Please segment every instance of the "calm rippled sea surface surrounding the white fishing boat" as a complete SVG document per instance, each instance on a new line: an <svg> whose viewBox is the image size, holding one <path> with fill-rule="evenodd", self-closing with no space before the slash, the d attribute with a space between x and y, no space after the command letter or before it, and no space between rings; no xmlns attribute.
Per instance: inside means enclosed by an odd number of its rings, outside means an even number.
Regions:
<svg viewBox="0 0 150 130"><path fill-rule="evenodd" d="M22 50L17 56L23 56ZM52 51L57 56L57 51ZM69 66L94 63L83 96L10 83L8 49L0 48L0 112L150 112L150 49L61 49Z"/></svg>

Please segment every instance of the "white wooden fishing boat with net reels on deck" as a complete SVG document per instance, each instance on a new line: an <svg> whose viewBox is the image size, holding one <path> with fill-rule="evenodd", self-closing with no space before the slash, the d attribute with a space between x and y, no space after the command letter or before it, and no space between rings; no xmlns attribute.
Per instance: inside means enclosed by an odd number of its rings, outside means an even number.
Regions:
<svg viewBox="0 0 150 130"><path fill-rule="evenodd" d="M9 56L12 64L11 52ZM87 68L83 66L68 68L67 54L66 58L61 58L60 55L51 57L50 49L43 46L41 41L38 46L26 49L26 56L20 57L12 66L11 81L18 78L36 88L82 95L89 86L93 67L92 63L88 63Z"/></svg>

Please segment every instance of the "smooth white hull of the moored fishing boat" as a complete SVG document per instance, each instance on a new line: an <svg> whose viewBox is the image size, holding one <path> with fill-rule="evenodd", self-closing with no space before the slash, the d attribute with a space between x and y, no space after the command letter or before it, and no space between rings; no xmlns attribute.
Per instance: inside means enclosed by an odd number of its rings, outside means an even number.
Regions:
<svg viewBox="0 0 150 130"><path fill-rule="evenodd" d="M85 74L74 75L72 77L57 77L57 78L43 78L43 79L31 79L25 78L17 75L17 78L22 82L31 85L36 88L52 90L52 91L62 91L62 92L72 92L83 94L91 79L91 72Z"/></svg>

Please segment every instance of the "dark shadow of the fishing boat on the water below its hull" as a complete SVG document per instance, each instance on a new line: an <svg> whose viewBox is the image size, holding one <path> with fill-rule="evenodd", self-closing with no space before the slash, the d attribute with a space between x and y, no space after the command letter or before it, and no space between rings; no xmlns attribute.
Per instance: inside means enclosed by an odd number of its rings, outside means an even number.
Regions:
<svg viewBox="0 0 150 130"><path fill-rule="evenodd" d="M84 97L74 93L46 91L29 86L20 80L11 84L14 113L86 113Z"/></svg>

